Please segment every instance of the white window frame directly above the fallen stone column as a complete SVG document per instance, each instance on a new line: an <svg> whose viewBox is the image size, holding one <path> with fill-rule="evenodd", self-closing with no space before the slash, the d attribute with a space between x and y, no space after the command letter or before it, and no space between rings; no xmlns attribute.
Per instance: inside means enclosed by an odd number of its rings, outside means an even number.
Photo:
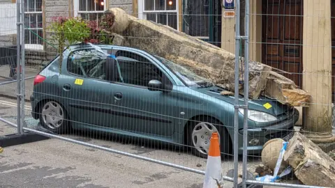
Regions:
<svg viewBox="0 0 335 188"><path fill-rule="evenodd" d="M138 18L140 19L147 19L147 13L176 13L177 14L177 31L179 31L179 1L181 0L176 0L176 9L175 10L144 10L145 7L145 0L137 0L138 2ZM166 1L168 0L164 0L165 1L165 5L166 5ZM155 1L154 1L154 7L155 7ZM166 7L165 7L166 9ZM156 16L156 20L157 20L157 16ZM168 16L166 18L166 26L169 26L169 19Z"/></svg>

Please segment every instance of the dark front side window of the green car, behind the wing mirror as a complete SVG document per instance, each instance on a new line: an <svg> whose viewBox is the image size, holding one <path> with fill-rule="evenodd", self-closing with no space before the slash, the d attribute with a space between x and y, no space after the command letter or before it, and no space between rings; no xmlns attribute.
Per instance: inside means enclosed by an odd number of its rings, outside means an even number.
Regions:
<svg viewBox="0 0 335 188"><path fill-rule="evenodd" d="M116 57L118 82L147 87L153 79L162 81L161 70L147 58L127 51L118 51Z"/></svg>

